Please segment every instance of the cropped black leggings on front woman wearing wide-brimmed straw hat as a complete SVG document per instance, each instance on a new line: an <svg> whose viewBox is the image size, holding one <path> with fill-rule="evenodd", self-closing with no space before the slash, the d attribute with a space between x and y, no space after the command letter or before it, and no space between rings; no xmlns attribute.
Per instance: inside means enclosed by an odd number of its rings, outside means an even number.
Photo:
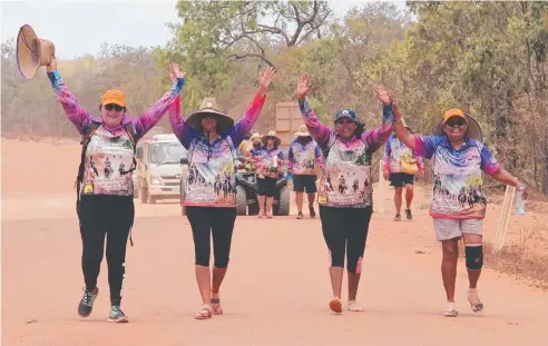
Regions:
<svg viewBox="0 0 548 346"><path fill-rule="evenodd" d="M236 220L236 208L186 207L194 238L197 266L209 266L209 235L213 234L215 267L226 268L231 255L232 233Z"/></svg>

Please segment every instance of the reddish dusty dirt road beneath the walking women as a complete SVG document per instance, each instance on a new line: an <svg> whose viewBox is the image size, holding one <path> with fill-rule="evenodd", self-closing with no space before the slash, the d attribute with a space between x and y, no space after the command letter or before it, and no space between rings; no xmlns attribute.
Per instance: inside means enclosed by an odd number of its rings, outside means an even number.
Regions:
<svg viewBox="0 0 548 346"><path fill-rule="evenodd" d="M2 345L547 344L546 291L486 269L479 286L486 309L473 314L463 261L457 283L460 316L441 316L440 249L419 188L414 221L392 221L391 191L388 212L373 216L358 296L364 313L329 310L329 258L319 219L241 217L221 291L225 315L195 320L200 301L188 223L176 204L136 201L123 299L130 323L106 322L105 260L94 313L82 319L77 316L81 245L71 190L78 147L18 144L13 150L3 140L2 147ZM55 159L36 152L55 152ZM491 238L493 210L486 221Z"/></svg>

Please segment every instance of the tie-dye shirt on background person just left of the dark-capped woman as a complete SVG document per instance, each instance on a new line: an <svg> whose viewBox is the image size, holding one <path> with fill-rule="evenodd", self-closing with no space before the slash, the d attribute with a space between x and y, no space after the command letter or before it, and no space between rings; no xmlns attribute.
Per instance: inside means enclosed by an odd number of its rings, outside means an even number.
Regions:
<svg viewBox="0 0 548 346"><path fill-rule="evenodd" d="M315 176L315 165L323 169L323 157L315 140L302 144L295 138L287 152L287 168L294 176Z"/></svg>

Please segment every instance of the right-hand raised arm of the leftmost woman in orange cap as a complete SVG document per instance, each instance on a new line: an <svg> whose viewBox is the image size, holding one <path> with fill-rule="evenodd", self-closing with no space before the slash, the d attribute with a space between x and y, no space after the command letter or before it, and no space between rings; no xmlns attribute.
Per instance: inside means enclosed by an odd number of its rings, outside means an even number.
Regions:
<svg viewBox="0 0 548 346"><path fill-rule="evenodd" d="M172 88L134 122L137 138L143 138L162 119L185 86L186 73L180 72L179 66L172 63L170 69L175 75Z"/></svg>

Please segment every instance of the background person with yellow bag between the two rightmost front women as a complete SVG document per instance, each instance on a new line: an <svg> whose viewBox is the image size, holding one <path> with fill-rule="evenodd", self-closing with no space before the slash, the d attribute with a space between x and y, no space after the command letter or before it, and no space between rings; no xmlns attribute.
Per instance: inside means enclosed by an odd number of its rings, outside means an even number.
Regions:
<svg viewBox="0 0 548 346"><path fill-rule="evenodd" d="M403 120L402 122L410 130ZM424 176L422 158L414 155L393 132L384 147L383 174L384 179L390 179L390 186L394 187L395 221L401 220L403 187L405 187L405 217L408 220L413 219L411 202L413 201L414 175L418 172Z"/></svg>

